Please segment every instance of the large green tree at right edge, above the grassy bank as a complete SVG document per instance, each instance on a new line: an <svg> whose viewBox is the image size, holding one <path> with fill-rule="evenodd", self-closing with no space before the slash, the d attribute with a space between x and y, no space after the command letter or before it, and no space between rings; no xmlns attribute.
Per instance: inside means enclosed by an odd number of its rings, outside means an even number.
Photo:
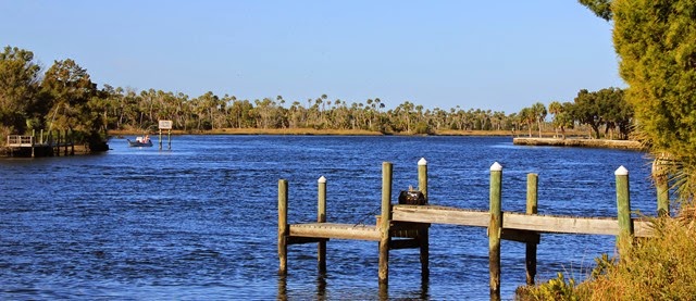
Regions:
<svg viewBox="0 0 696 301"><path fill-rule="evenodd" d="M696 195L696 2L614 0L613 42L639 134L679 162L680 197Z"/></svg>

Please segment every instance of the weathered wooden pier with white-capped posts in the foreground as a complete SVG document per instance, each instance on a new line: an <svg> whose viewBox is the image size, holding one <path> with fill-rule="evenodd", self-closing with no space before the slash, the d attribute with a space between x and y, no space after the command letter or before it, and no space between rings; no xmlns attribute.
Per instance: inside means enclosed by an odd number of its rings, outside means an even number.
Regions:
<svg viewBox="0 0 696 301"><path fill-rule="evenodd" d="M588 234L617 236L619 239L652 236L650 223L642 218L631 218L629 195L629 171L617 170L617 217L577 217L537 214L536 174L527 175L526 212L502 212L501 178L502 166L490 166L489 211L467 210L428 204L427 164L419 161L418 190L425 197L425 204L395 204L391 202L391 163L382 165L382 213L374 226L326 223L326 179L319 179L318 222L288 224L287 180L278 180L278 258L281 275L287 274L288 246L297 243L319 243L318 265L326 269L326 241L330 239L356 239L378 242L378 283L388 284L389 250L419 248L421 276L425 280L428 267L428 228L431 224L487 227L488 263L490 276L490 299L500 298L500 240L526 243L526 284L533 285L536 276L536 244L540 234Z"/></svg>

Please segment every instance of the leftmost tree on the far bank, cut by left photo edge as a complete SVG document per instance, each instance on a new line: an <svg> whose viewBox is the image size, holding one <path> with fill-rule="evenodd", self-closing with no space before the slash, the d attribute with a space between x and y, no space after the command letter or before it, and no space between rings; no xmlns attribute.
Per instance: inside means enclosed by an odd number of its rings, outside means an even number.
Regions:
<svg viewBox="0 0 696 301"><path fill-rule="evenodd" d="M45 105L36 99L39 71L32 51L8 46L0 53L0 127L8 131L3 134L22 133L27 120L42 115L39 109Z"/></svg>

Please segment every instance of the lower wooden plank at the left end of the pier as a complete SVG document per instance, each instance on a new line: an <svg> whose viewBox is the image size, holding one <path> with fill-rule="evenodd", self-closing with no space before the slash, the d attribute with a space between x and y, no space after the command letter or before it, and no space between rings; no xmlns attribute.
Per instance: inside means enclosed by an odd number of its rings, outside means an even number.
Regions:
<svg viewBox="0 0 696 301"><path fill-rule="evenodd" d="M289 225L289 236L297 237L380 240L380 230L375 226L312 223L293 224Z"/></svg>

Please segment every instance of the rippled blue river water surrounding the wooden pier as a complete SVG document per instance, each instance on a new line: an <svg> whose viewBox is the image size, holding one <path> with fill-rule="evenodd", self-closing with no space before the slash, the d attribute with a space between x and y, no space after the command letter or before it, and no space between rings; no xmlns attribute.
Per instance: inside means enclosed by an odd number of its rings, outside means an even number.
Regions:
<svg viewBox="0 0 696 301"><path fill-rule="evenodd" d="M277 276L277 180L289 181L289 222L316 218L327 178L328 222L374 223L382 162L394 191L428 164L431 204L487 210L489 166L504 166L502 209L523 212L527 173L539 174L542 214L616 216L613 172L630 171L633 210L652 215L645 154L519 147L490 137L173 136L172 150L128 148L73 158L0 160L0 299L488 299L484 228L433 225L431 276L418 250L390 252L380 292L377 246L290 246ZM166 141L164 142L166 149ZM538 279L582 279L614 237L543 235ZM524 284L524 244L502 241L502 297Z"/></svg>

